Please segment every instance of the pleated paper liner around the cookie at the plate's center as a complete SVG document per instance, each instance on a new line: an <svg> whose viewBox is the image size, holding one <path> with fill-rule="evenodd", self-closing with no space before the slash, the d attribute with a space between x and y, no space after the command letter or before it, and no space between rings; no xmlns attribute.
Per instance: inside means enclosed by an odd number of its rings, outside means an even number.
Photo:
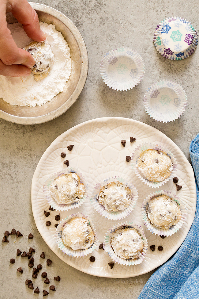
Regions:
<svg viewBox="0 0 199 299"><path fill-rule="evenodd" d="M127 187L129 187L129 189L132 192L132 196L131 196L131 202L130 205L125 209L125 210L119 210L119 211L107 211L104 206L102 204L100 204L99 201L97 201L97 197L100 193L100 188L110 182L114 182L114 181L118 181L121 182L123 184L125 184ZM130 185L130 183L123 179L123 178L119 178L119 177L111 177L111 178L107 178L104 179L102 184L98 183L96 184L92 197L90 199L91 201L91 205L94 207L94 209L100 213L102 216L104 216L107 219L111 219L111 220L119 220L122 218L127 217L134 209L136 202L138 200L138 192L136 190L136 188L132 185Z"/></svg>

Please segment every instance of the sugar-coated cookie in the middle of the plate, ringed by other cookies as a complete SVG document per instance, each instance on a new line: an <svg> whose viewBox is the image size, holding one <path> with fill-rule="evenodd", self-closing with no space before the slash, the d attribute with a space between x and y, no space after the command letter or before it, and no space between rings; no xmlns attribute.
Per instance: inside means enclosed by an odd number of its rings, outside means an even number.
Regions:
<svg viewBox="0 0 199 299"><path fill-rule="evenodd" d="M110 182L101 187L97 200L107 211L124 210L130 205L131 190L121 182Z"/></svg>

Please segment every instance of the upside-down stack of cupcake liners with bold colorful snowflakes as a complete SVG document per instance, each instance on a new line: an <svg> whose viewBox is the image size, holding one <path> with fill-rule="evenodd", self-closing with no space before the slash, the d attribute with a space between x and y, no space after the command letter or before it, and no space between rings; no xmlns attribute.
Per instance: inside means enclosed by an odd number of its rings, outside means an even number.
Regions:
<svg viewBox="0 0 199 299"><path fill-rule="evenodd" d="M189 57L196 50L198 43L195 28L181 17L163 20L156 27L153 40L157 51L171 60Z"/></svg>

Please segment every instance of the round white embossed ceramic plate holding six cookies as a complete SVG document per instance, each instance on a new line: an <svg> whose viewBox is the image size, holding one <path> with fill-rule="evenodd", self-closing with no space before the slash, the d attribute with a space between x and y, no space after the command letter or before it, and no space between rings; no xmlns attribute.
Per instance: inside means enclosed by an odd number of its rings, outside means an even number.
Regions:
<svg viewBox="0 0 199 299"><path fill-rule="evenodd" d="M130 137L137 140L130 143ZM126 140L123 147L121 140ZM165 143L175 155L178 163L176 176L179 178L180 191L176 191L176 186L172 180L163 185L163 190L173 190L181 197L186 204L187 219L184 226L173 236L161 239L160 236L152 234L144 226L141 216L141 205L143 199L154 191L147 186L132 170L131 163L126 162L126 155L131 155L137 145L145 142ZM68 145L74 144L72 151L67 149ZM61 152L66 152L66 158L61 158ZM92 197L94 182L97 177L107 179L109 177L125 177L136 186L138 190L138 201L132 213L121 220L107 220L91 206L89 198L78 208L69 211L50 211L49 217L45 217L43 211L48 211L49 204L45 200L43 193L44 181L57 171L66 171L67 166L63 162L68 159L69 167L79 168L87 179L90 197ZM103 183L103 182L102 182ZM65 263L70 266L96 276L110 278L126 278L145 274L167 261L175 253L186 238L194 219L196 209L196 188L193 169L187 161L185 155L177 145L165 136L162 132L139 121L121 117L104 117L91 121L86 121L77 125L62 135L58 136L47 148L41 157L36 171L32 178L32 211L36 226L44 241L51 250ZM98 235L99 244L103 243L104 236L109 228L118 222L133 222L141 225L148 240L148 251L144 262L139 265L122 266L115 263L111 269L108 265L111 258L103 249L96 249L92 253L96 260L89 261L89 255L81 258L73 258L59 250L54 240L55 227L58 223L54 219L59 214L61 220L73 213L83 213L92 219ZM51 221L51 226L45 225L46 221ZM152 252L149 247L156 245L156 250ZM157 247L163 246L163 251L158 251Z"/></svg>

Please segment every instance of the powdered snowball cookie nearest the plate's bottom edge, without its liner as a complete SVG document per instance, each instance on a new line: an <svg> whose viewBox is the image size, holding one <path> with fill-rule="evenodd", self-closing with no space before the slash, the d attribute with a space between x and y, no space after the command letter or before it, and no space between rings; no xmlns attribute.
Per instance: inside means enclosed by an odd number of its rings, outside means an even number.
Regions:
<svg viewBox="0 0 199 299"><path fill-rule="evenodd" d="M139 259L144 243L137 229L125 226L112 234L111 246L114 252L123 259Z"/></svg>

